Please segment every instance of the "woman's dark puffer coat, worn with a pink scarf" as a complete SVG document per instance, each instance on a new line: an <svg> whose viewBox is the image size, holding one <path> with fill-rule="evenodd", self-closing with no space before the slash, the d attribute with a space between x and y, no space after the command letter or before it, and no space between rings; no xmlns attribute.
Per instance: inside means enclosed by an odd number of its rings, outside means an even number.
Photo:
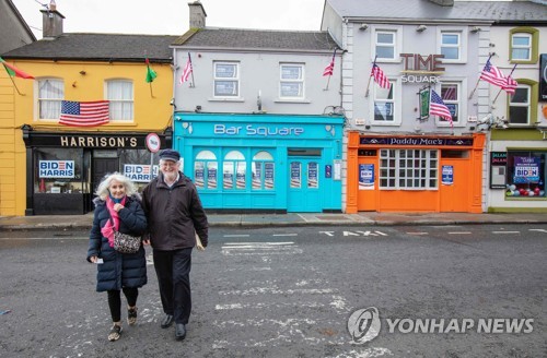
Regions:
<svg viewBox="0 0 547 358"><path fill-rule="evenodd" d="M142 243L137 253L119 253L110 248L108 239L101 232L101 228L110 218L106 202L96 198L94 203L95 214L90 234L88 261L93 255L104 261L97 264L97 291L144 286L148 277L146 251ZM118 230L132 236L141 236L147 229L147 217L139 198L128 196L124 206L118 212Z"/></svg>

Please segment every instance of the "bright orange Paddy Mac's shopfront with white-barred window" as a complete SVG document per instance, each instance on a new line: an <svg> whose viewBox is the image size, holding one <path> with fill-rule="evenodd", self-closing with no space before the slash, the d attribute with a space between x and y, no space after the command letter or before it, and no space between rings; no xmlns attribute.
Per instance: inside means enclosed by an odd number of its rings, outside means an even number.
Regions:
<svg viewBox="0 0 547 358"><path fill-rule="evenodd" d="M347 213L481 213L485 134L348 132Z"/></svg>

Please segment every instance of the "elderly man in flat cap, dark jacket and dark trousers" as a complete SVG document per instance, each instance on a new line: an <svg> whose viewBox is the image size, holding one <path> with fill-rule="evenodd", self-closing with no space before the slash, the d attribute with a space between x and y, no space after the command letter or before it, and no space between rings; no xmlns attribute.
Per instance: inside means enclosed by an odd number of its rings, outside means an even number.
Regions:
<svg viewBox="0 0 547 358"><path fill-rule="evenodd" d="M165 317L161 327L175 322L175 338L186 337L191 311L190 267L195 232L203 247L208 242L207 215L196 187L181 170L181 154L160 152L160 174L142 192L154 267Z"/></svg>

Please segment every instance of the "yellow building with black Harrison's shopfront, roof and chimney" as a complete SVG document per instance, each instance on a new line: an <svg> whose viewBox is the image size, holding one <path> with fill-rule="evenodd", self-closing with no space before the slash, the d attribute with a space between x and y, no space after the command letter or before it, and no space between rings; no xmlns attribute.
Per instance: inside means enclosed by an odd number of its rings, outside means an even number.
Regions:
<svg viewBox="0 0 547 358"><path fill-rule="evenodd" d="M142 187L171 147L176 36L63 34L62 19L3 55L34 80L0 69L0 216L86 213L105 174Z"/></svg>

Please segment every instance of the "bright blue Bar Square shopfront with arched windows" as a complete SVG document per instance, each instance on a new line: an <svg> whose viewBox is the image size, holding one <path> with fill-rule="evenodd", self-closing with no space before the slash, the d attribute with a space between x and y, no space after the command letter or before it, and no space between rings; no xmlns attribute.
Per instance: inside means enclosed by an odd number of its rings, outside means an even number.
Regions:
<svg viewBox="0 0 547 358"><path fill-rule="evenodd" d="M209 210L340 212L344 120L177 112L173 146Z"/></svg>

